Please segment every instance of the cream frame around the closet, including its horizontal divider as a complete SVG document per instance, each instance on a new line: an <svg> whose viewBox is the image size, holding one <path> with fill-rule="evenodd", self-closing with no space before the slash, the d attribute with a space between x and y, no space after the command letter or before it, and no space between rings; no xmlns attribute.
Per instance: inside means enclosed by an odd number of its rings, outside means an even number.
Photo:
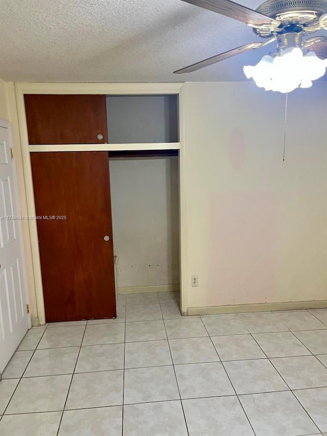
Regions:
<svg viewBox="0 0 327 436"><path fill-rule="evenodd" d="M25 94L103 94L103 95L152 95L175 94L179 96L179 143L155 144L158 150L179 150L179 246L180 246L180 309L188 311L187 301L187 245L186 245L186 156L185 156L185 87L184 83L15 83L22 167L24 171L27 210L29 216L36 216L30 152L46 151L121 151L153 150L154 144L68 144L29 145L25 113ZM45 323L41 264L37 237L36 220L29 220L35 297L39 324Z"/></svg>

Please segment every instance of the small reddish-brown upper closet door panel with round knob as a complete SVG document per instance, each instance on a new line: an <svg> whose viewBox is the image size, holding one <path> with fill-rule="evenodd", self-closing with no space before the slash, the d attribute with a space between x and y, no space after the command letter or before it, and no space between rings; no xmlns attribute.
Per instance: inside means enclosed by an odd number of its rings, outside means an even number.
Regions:
<svg viewBox="0 0 327 436"><path fill-rule="evenodd" d="M107 143L105 96L26 94L25 109L30 144Z"/></svg>

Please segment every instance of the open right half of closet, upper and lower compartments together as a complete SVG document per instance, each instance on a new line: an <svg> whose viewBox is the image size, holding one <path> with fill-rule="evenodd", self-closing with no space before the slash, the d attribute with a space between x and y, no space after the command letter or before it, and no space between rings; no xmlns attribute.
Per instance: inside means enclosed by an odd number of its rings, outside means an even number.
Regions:
<svg viewBox="0 0 327 436"><path fill-rule="evenodd" d="M108 95L106 111L108 144L126 145L109 151L116 292L179 310L178 96Z"/></svg>

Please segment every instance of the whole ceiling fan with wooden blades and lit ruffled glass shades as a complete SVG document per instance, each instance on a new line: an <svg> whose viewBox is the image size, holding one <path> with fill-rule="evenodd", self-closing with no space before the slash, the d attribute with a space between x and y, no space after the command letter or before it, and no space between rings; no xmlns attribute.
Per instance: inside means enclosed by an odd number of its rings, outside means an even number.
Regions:
<svg viewBox="0 0 327 436"><path fill-rule="evenodd" d="M296 87L309 87L327 66L327 37L303 39L320 29L327 30L326 0L268 0L255 11L230 0L182 0L209 11L244 22L264 41L241 45L175 71L191 73L232 56L276 43L273 54L255 66L245 66L247 78L258 86L284 93Z"/></svg>

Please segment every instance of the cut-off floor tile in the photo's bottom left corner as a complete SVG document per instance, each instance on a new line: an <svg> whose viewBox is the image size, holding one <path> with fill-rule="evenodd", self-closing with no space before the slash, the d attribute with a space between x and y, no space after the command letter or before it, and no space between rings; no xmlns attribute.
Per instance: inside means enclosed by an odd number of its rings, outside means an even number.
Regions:
<svg viewBox="0 0 327 436"><path fill-rule="evenodd" d="M40 414L7 415L0 421L2 436L55 436L61 412Z"/></svg>

